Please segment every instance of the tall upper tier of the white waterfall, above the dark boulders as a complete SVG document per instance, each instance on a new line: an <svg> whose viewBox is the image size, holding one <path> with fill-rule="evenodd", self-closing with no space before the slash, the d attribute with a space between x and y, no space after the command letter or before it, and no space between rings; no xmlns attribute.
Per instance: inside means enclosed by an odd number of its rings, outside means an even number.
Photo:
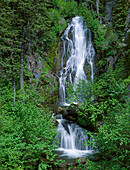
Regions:
<svg viewBox="0 0 130 170"><path fill-rule="evenodd" d="M91 67L91 82L94 82L93 60L95 50L92 45L91 31L79 16L72 19L61 40L63 41L63 54L60 59L59 98L60 103L66 105L66 82L73 85L74 90L76 90L79 80L88 82L84 71L86 62Z"/></svg>

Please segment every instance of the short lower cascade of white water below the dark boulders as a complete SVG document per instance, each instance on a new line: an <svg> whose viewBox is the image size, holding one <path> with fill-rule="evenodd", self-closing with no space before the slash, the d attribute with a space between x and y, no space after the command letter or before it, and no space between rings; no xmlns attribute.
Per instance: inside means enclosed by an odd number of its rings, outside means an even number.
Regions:
<svg viewBox="0 0 130 170"><path fill-rule="evenodd" d="M57 121L59 124L57 127L58 135L56 136L56 140L60 143L56 151L60 152L59 157L68 157L69 159L85 157L92 153L93 147L86 145L89 136L86 134L85 129L65 119L57 119Z"/></svg>

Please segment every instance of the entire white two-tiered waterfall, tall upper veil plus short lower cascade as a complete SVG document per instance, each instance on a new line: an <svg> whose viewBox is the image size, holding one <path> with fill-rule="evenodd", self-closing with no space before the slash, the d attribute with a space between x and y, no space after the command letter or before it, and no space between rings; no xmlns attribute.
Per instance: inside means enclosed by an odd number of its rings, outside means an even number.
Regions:
<svg viewBox="0 0 130 170"><path fill-rule="evenodd" d="M61 39L63 54L60 58L59 97L61 105L68 105L66 102L66 82L73 86L76 93L81 81L87 84L89 78L84 71L85 63L90 65L90 79L92 83L94 82L93 61L95 50L92 45L91 32L79 16L72 19ZM79 101L81 98L78 96L76 100ZM92 153L92 147L85 145L89 137L83 128L62 118L57 120L59 122L57 132L59 134L56 138L60 142L57 152L61 151L62 155L60 156L76 158Z"/></svg>

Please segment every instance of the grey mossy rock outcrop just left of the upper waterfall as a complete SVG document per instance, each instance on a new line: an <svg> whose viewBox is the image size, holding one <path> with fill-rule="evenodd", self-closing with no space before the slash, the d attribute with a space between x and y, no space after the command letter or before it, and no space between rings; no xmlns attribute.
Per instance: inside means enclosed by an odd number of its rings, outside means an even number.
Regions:
<svg viewBox="0 0 130 170"><path fill-rule="evenodd" d="M46 62L38 54L29 55L27 57L29 82L30 84L40 84L40 90L43 96L45 96L46 103L55 103L56 97L58 97L58 82L56 77L52 74L47 66Z"/></svg>

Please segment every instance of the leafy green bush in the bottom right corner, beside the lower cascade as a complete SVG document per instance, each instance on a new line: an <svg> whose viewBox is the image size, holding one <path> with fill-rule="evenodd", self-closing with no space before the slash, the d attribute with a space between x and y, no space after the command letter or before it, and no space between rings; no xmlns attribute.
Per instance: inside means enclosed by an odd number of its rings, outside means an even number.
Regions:
<svg viewBox="0 0 130 170"><path fill-rule="evenodd" d="M92 167L103 165L106 169L129 169L129 103L124 107L120 104L113 107L99 128L95 142L102 160Z"/></svg>

